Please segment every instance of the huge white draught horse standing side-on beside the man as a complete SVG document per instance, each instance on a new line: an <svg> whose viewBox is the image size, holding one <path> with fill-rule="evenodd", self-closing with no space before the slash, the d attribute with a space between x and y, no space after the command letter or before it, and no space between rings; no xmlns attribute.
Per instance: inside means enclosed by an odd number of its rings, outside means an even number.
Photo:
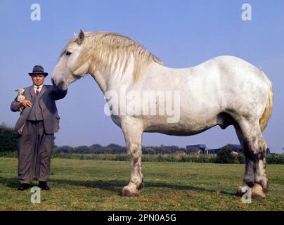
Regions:
<svg viewBox="0 0 284 225"><path fill-rule="evenodd" d="M233 56L212 58L192 68L167 68L129 37L80 30L61 53L51 82L59 89L67 89L86 74L96 80L107 101L111 100L112 120L124 134L131 179L122 195L137 195L143 188L143 132L190 136L216 125L222 129L233 125L246 158L243 185L237 193L243 195L250 187L252 196L265 196L267 145L262 131L271 116L273 88L262 70ZM138 98L134 101L125 97L129 93L141 96L145 91L151 94L178 91L179 98L174 101L179 104L174 106L178 107L179 120L169 122L169 113L149 115L147 110L142 110L145 105L138 103ZM111 98L109 93L116 93L117 98ZM172 107L172 98L155 99L154 105L159 109L164 103ZM135 105L136 113L129 113L127 104Z"/></svg>

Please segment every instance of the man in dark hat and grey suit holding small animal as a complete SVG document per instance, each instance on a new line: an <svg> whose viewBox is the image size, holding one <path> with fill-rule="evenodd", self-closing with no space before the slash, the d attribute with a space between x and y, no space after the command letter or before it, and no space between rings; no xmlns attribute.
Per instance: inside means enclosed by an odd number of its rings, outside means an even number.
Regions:
<svg viewBox="0 0 284 225"><path fill-rule="evenodd" d="M35 65L32 72L33 85L25 88L26 99L22 103L11 103L13 112L20 111L15 130L21 135L18 140L18 179L19 191L30 188L33 180L39 181L39 187L49 190L47 180L51 165L51 151L54 148L54 133L59 129L56 100L64 98L66 91L52 85L44 85L48 75L41 65Z"/></svg>

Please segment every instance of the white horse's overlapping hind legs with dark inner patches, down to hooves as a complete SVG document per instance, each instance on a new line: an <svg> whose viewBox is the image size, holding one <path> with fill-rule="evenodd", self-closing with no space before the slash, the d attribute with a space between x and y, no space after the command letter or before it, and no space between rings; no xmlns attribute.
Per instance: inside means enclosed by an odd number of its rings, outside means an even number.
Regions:
<svg viewBox="0 0 284 225"><path fill-rule="evenodd" d="M243 187L252 188L253 197L265 197L268 181L266 178L265 154L266 141L259 128L259 122L243 120L235 125L240 143L245 154L245 176L243 186L238 188L237 193L243 195Z"/></svg>

